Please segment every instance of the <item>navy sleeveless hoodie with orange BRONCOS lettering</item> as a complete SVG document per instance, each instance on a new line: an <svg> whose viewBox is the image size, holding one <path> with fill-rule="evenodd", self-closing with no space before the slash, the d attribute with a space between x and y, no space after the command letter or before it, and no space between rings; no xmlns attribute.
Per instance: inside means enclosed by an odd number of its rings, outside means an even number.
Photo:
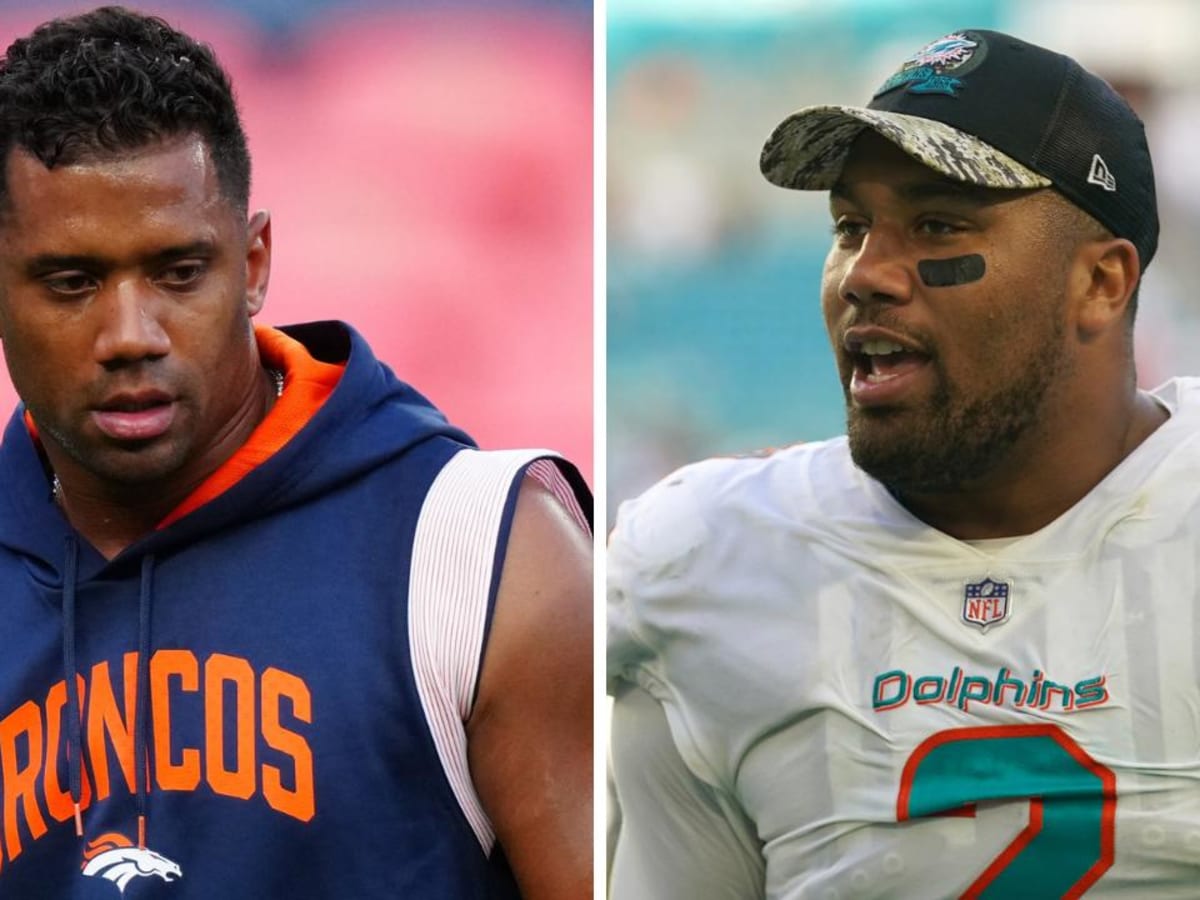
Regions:
<svg viewBox="0 0 1200 900"><path fill-rule="evenodd" d="M472 440L348 326L284 331L346 361L332 395L232 488L112 560L66 522L12 418L0 898L515 895L446 785L408 660L418 510Z"/></svg>

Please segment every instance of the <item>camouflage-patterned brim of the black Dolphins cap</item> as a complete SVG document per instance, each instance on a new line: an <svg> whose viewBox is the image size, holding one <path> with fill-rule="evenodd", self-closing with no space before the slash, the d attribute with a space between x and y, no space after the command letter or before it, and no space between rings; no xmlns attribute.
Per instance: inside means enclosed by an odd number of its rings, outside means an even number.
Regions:
<svg viewBox="0 0 1200 900"><path fill-rule="evenodd" d="M758 162L767 180L799 191L828 191L841 176L864 128L887 138L935 172L983 187L1049 187L1044 175L977 137L934 119L862 107L805 107L767 139Z"/></svg>

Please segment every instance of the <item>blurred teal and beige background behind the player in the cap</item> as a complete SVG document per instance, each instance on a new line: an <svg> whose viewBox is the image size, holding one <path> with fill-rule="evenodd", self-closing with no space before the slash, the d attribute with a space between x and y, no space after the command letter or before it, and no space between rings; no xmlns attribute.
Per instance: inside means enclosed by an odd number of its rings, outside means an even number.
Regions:
<svg viewBox="0 0 1200 900"><path fill-rule="evenodd" d="M1140 378L1200 373L1200 4L610 0L610 524L683 462L841 432L818 305L827 198L768 185L758 152L788 113L863 104L907 55L964 28L1068 53L1139 110L1163 223Z"/></svg>

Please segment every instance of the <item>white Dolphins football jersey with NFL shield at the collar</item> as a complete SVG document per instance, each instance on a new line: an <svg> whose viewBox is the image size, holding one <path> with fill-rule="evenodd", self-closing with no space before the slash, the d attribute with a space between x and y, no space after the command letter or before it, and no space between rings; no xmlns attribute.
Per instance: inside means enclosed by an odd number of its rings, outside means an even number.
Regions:
<svg viewBox="0 0 1200 900"><path fill-rule="evenodd" d="M1200 896L1200 379L1156 396L1015 540L930 528L845 438L625 504L612 900Z"/></svg>

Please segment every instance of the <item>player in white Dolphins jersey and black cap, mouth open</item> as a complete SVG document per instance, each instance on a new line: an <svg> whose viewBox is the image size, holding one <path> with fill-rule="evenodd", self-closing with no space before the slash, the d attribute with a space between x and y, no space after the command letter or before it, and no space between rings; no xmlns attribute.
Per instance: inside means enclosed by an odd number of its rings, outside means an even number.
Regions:
<svg viewBox="0 0 1200 900"><path fill-rule="evenodd" d="M612 535L610 896L1200 896L1200 379L1136 388L1141 122L965 30L768 139L847 436Z"/></svg>

